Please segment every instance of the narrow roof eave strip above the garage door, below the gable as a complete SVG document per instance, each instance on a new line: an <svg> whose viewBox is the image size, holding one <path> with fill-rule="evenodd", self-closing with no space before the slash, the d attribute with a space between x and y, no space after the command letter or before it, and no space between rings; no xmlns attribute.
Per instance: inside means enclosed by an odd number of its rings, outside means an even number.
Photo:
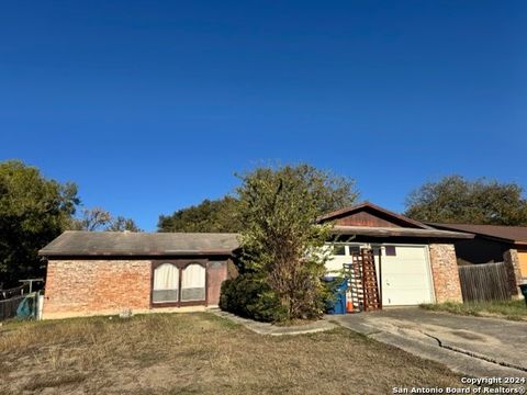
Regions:
<svg viewBox="0 0 527 395"><path fill-rule="evenodd" d="M332 229L334 235L357 235L373 237L421 237L421 238L453 238L470 239L474 235L461 232L438 229L415 229L396 227L367 227L367 226L341 226L336 225Z"/></svg>

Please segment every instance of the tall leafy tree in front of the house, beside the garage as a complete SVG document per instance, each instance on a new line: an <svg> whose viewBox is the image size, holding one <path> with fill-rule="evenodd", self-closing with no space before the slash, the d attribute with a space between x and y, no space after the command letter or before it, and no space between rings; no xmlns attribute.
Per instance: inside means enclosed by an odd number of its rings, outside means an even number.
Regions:
<svg viewBox="0 0 527 395"><path fill-rule="evenodd" d="M289 319L318 317L330 224L315 218L351 204L354 183L309 165L259 168L240 178L244 269L278 293Z"/></svg>

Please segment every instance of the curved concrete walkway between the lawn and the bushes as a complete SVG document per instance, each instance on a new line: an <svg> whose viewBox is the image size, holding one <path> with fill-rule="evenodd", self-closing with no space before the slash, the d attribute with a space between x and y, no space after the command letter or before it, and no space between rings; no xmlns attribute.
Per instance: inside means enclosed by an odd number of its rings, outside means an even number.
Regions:
<svg viewBox="0 0 527 395"><path fill-rule="evenodd" d="M211 313L231 319L236 324L245 326L247 329L253 330L259 335L271 335L271 336L283 336L283 335L305 335L305 334L315 334L325 330L330 330L336 328L335 324L329 323L328 320L317 320L305 325L296 326L277 326L269 323L259 323L253 319L242 318L237 315L223 312L221 309L211 309Z"/></svg>

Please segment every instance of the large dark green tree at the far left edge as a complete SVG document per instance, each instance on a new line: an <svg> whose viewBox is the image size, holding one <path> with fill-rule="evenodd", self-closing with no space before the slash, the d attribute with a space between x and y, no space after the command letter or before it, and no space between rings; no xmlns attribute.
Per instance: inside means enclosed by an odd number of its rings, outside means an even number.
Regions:
<svg viewBox="0 0 527 395"><path fill-rule="evenodd" d="M42 276L38 249L60 235L79 204L77 187L19 160L0 163L0 282Z"/></svg>

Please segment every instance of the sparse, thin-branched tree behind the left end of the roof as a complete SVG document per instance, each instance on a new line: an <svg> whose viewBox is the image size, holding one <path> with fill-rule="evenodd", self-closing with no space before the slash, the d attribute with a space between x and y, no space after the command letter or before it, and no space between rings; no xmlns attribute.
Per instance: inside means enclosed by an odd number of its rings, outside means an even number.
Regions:
<svg viewBox="0 0 527 395"><path fill-rule="evenodd" d="M123 216L114 217L102 207L83 208L80 218L71 218L71 230L143 232L134 219Z"/></svg>

